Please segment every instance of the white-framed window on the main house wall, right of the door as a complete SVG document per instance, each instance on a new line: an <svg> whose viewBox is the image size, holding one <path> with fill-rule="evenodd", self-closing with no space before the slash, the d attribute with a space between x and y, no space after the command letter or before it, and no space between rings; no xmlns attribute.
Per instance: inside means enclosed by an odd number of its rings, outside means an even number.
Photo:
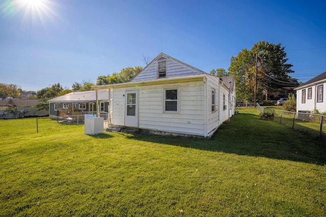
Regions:
<svg viewBox="0 0 326 217"><path fill-rule="evenodd" d="M164 112L177 113L179 111L179 88L164 89Z"/></svg>

